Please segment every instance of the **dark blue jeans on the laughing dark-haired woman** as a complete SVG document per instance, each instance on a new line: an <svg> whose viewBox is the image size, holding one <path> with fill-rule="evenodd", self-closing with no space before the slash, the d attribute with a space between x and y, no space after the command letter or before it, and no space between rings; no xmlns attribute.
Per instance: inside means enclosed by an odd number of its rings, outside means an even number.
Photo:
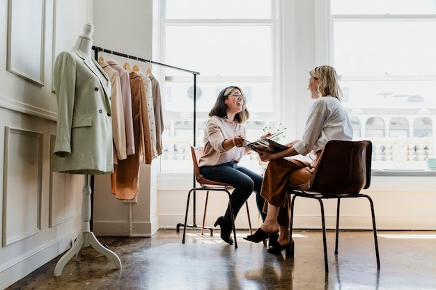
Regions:
<svg viewBox="0 0 436 290"><path fill-rule="evenodd" d="M206 179L233 184L235 189L231 193L231 202L235 218L251 193L256 193L258 211L262 220L265 220L266 214L263 212L265 198L260 196L260 188L263 181L262 176L248 168L238 166L236 161L222 163L217 166L203 166L200 168L200 172ZM226 214L224 214L224 221L231 224L229 206L227 207Z"/></svg>

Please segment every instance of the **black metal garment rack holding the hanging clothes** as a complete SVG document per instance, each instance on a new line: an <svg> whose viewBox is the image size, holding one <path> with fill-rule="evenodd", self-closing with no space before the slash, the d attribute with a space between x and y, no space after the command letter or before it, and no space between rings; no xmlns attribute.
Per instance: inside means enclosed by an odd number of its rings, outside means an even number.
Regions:
<svg viewBox="0 0 436 290"><path fill-rule="evenodd" d="M98 61L98 53L100 51L102 52L106 52L107 54L114 54L116 56L122 56L125 58L130 58L133 59L134 61L141 61L143 63L153 63L155 65L161 65L164 67L169 67L172 68L174 70L181 70L182 72L189 72L190 74L192 74L192 76L194 76L194 146L196 145L196 82L197 82L197 75L200 74L200 72L196 72L194 70L186 70L184 68L181 67L175 67L173 65L166 65L165 63L158 63L156 61L150 61L148 59L145 58L139 58L137 56L131 56L130 54L123 54L122 52L117 52L117 51L113 51L111 49L104 49L102 47L96 47L93 45L92 47L93 51L94 51L94 58L95 61ZM193 187L196 186L196 180L195 180L195 176L193 178ZM91 188L94 188L94 176L91 176ZM93 202L93 199L91 198L91 202ZM194 191L194 194L192 195L192 210L193 210L193 214L192 214L192 225L187 225L187 227L192 227L192 228L200 228L201 226L196 225L196 194ZM178 223L177 227L176 227L176 231L180 232L180 227L183 227L185 224L184 223ZM205 229L210 229L210 232L212 234L212 228L206 228Z"/></svg>

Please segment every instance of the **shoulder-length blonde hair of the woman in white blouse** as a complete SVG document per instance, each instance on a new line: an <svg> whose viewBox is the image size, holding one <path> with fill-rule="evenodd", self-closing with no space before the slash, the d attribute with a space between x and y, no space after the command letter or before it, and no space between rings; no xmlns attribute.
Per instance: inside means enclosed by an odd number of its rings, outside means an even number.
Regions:
<svg viewBox="0 0 436 290"><path fill-rule="evenodd" d="M318 92L322 97L332 95L336 97L339 101L342 100L342 90L339 86L338 74L334 67L329 65L320 65L315 67L309 74L314 79L320 80L320 85L318 86Z"/></svg>

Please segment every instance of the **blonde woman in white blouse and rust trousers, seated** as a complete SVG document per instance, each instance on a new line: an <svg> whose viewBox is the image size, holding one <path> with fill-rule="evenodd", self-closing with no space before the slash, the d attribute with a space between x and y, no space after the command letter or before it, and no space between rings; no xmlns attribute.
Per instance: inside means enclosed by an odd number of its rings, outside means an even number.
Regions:
<svg viewBox="0 0 436 290"><path fill-rule="evenodd" d="M352 140L350 117L341 104L342 91L334 67L322 65L309 72L307 88L315 99L301 140L289 143L281 152L260 152L262 161L270 161L265 171L261 195L267 200L267 217L259 229L246 240L258 243L279 232L277 243L267 251L279 255L289 241L289 208L286 185L304 186L311 179L318 156L329 140ZM303 161L283 157L303 155Z"/></svg>

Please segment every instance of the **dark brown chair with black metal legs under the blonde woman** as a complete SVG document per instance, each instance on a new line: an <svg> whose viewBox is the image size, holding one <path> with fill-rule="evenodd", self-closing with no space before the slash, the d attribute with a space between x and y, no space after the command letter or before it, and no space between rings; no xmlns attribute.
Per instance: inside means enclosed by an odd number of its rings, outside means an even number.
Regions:
<svg viewBox="0 0 436 290"><path fill-rule="evenodd" d="M294 207L296 198L311 198L318 200L321 207L322 239L324 243L325 272L329 272L327 261L327 242L325 234L325 214L322 200L336 199L336 244L334 253L338 254L339 209L343 198L366 198L371 206L373 218L373 234L375 243L375 256L377 269L380 269L380 257L377 243L377 229L375 227L375 214L373 200L370 196L360 193L371 183L371 157L372 143L369 140L361 141L329 141L321 152L318 166L313 172L309 182L302 188L296 189L288 186L288 193L292 195L290 202L290 232L289 241L292 241ZM291 245L291 243L290 243ZM294 247L288 246L286 257L293 257Z"/></svg>

